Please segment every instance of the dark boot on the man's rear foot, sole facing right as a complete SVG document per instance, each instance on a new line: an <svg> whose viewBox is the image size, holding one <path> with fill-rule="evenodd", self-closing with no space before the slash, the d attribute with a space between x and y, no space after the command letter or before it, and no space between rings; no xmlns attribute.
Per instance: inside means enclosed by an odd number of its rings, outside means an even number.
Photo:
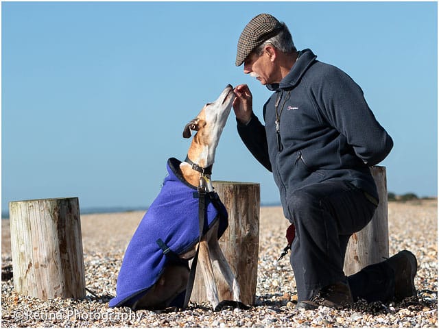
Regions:
<svg viewBox="0 0 439 329"><path fill-rule="evenodd" d="M405 297L416 296L414 276L416 276L418 262L414 254L408 250L403 250L383 263L392 267L395 274L395 300L400 301Z"/></svg>

